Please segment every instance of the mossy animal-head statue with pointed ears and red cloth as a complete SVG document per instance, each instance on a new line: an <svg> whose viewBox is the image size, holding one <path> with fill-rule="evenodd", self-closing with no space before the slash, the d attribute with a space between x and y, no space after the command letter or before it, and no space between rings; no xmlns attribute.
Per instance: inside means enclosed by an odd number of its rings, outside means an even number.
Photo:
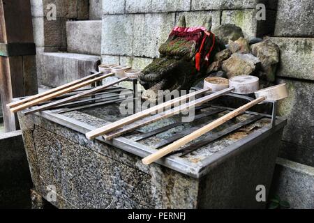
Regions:
<svg viewBox="0 0 314 223"><path fill-rule="evenodd" d="M140 83L148 90L143 98L156 99L158 90L188 90L206 76L219 44L210 32L211 18L205 24L206 28L187 28L185 17L180 17L167 41L160 46L160 57L140 75Z"/></svg>

